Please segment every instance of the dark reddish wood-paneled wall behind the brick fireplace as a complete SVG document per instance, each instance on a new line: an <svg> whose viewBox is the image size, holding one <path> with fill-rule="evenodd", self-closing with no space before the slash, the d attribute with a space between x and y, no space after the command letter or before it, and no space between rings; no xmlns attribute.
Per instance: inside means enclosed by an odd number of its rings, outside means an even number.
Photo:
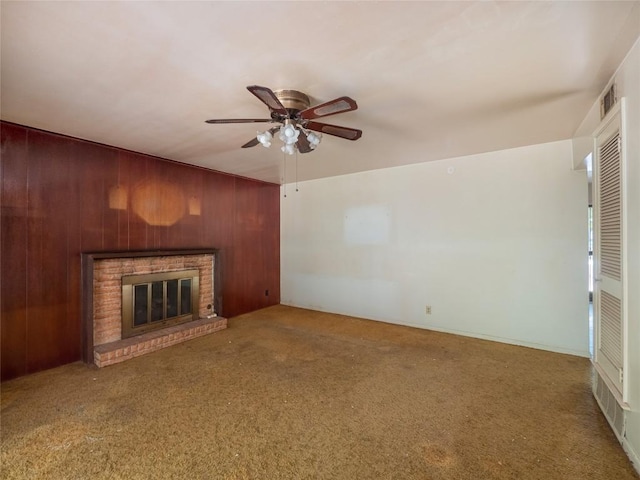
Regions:
<svg viewBox="0 0 640 480"><path fill-rule="evenodd" d="M19 125L0 129L3 380L81 358L82 252L217 248L221 315L280 302L278 185ZM195 197L200 215L149 225L131 208L143 181ZM109 207L117 185L129 193L124 210Z"/></svg>

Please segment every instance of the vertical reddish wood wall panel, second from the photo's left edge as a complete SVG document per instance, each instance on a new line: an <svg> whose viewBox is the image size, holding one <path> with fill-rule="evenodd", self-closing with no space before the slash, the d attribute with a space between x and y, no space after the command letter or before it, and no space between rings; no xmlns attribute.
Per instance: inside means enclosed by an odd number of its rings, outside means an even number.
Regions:
<svg viewBox="0 0 640 480"><path fill-rule="evenodd" d="M58 365L68 356L67 200L70 142L39 131L27 134L27 371ZM75 206L73 207L75 209ZM62 344L61 344L62 343Z"/></svg>

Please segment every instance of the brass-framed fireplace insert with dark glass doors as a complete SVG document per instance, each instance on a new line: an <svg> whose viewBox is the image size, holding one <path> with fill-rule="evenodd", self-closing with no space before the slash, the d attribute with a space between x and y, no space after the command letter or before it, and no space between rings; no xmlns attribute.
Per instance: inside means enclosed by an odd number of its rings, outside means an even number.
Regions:
<svg viewBox="0 0 640 480"><path fill-rule="evenodd" d="M200 309L199 271L122 277L122 338L189 322Z"/></svg>

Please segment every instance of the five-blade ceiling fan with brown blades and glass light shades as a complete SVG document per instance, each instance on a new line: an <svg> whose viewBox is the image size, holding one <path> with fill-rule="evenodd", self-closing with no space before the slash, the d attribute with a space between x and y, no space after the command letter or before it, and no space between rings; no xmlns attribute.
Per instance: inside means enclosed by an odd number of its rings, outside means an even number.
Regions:
<svg viewBox="0 0 640 480"><path fill-rule="evenodd" d="M317 118L356 110L358 105L352 98L339 97L310 107L309 97L297 90L273 91L259 85L248 86L247 90L269 108L271 118L206 120L206 123L213 124L261 122L280 124L280 126L272 127L264 132L258 132L258 135L242 145L242 148L255 147L258 144L269 147L276 132L284 144L282 151L289 155L292 155L296 150L300 153L311 152L320 143L322 133L347 140L357 140L362 136L362 130L314 121Z"/></svg>

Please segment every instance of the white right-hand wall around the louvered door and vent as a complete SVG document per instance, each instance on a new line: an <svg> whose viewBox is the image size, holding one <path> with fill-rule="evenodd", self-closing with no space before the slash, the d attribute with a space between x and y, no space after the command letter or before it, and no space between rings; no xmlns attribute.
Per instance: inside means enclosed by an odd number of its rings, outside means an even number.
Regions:
<svg viewBox="0 0 640 480"><path fill-rule="evenodd" d="M624 185L624 208L626 209L626 262L627 309L629 355L625 381L629 387L631 411L626 414L626 435L623 445L640 472L640 38L627 54L613 79L618 97L626 102L625 161L626 184ZM600 122L595 114L598 103L582 122L577 136L591 135Z"/></svg>

